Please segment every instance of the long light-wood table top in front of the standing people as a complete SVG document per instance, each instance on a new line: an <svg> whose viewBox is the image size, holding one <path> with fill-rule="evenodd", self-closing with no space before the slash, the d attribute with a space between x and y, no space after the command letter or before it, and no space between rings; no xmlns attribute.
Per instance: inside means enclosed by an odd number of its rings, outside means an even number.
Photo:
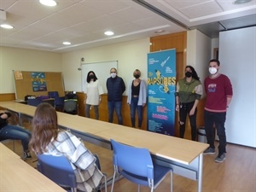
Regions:
<svg viewBox="0 0 256 192"><path fill-rule="evenodd" d="M33 116L35 107L16 102L0 102L0 107ZM174 160L185 165L195 160L208 144L193 142L177 137L166 136L151 131L143 131L131 127L116 125L96 119L88 119L67 113L58 114L58 124L99 137L105 140L114 140L135 147L148 148L151 154L168 160Z"/></svg>

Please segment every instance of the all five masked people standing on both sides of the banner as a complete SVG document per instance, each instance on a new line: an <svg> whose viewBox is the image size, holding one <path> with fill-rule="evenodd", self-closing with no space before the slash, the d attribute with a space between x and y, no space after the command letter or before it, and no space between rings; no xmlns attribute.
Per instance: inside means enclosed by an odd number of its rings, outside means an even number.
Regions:
<svg viewBox="0 0 256 192"><path fill-rule="evenodd" d="M189 115L189 123L191 126L191 139L197 140L196 114L197 105L203 95L203 87L207 94L205 103L204 122L207 135L207 143L210 147L204 154L215 154L214 138L217 130L219 145L218 156L216 162L222 162L226 153L226 135L225 135L225 119L227 108L229 108L231 98L233 96L232 84L230 79L224 74L218 73L220 62L216 59L209 61L208 71L210 75L201 84L195 68L192 66L185 67L185 77L177 82L177 90L175 92L176 111L179 113L179 136L184 137L186 128L186 119ZM138 127L141 128L143 122L143 106L147 102L147 85L140 79L141 72L136 69L133 72L134 79L128 87L127 103L130 105L131 126L135 127L135 115L137 110ZM92 71L87 76L87 86L85 88L85 111L86 116L90 117L90 106L94 105L96 119L98 115L98 105L101 102L103 93L102 86L96 80L96 74ZM113 111L115 110L119 125L123 125L121 107L122 95L125 91L125 83L122 78L117 75L116 68L110 69L110 78L107 79L108 90L108 122L113 122ZM94 102L91 102L94 101Z"/></svg>

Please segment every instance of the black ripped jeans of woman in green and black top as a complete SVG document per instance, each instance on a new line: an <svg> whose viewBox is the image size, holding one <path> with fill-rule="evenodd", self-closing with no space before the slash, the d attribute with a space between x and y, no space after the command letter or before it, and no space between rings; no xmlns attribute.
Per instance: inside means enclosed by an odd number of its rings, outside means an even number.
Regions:
<svg viewBox="0 0 256 192"><path fill-rule="evenodd" d="M179 105L179 137L183 138L186 128L186 119L189 114L191 108L193 108L194 102L181 103ZM193 115L189 115L189 122L191 126L191 139L196 141L196 113L197 108L195 108L195 113ZM183 124L181 124L183 122Z"/></svg>

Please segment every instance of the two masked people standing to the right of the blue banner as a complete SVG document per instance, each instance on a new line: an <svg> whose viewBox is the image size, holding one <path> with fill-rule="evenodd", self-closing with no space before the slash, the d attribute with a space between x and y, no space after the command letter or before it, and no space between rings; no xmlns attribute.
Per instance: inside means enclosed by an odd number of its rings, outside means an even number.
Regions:
<svg viewBox="0 0 256 192"><path fill-rule="evenodd" d="M219 145L218 156L215 161L220 163L225 160L226 153L226 134L224 123L226 120L227 109L229 108L233 96L232 84L230 79L221 73L218 73L220 62L216 59L209 61L210 75L204 80L204 88L207 99L204 110L205 131L207 143L210 145L204 154L215 154L214 130L215 125ZM189 123L191 126L191 138L196 141L196 113L197 105L201 99L203 89L200 79L191 66L185 67L185 78L177 82L176 110L179 112L179 133L184 137L187 115L189 114Z"/></svg>

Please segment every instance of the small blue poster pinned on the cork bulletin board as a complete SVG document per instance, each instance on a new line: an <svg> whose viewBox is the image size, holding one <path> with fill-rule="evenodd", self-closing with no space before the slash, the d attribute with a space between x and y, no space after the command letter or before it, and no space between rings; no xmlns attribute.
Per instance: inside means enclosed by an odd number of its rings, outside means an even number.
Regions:
<svg viewBox="0 0 256 192"><path fill-rule="evenodd" d="M32 72L31 80L32 80L32 89L34 92L47 90L45 73Z"/></svg>

